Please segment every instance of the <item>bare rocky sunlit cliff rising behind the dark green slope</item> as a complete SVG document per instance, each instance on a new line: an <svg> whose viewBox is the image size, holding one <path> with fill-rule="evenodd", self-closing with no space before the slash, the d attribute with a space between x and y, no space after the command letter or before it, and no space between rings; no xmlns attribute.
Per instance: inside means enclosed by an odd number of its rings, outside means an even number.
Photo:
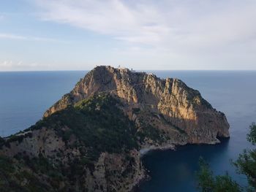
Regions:
<svg viewBox="0 0 256 192"><path fill-rule="evenodd" d="M187 133L187 141L182 142L214 143L218 142L217 137L229 137L229 124L225 115L211 107L199 91L187 87L181 80L162 80L154 74L131 72L129 69L115 69L111 66L97 66L91 70L70 93L50 107L44 116L97 93L117 96L127 105L123 109L127 114L133 107L139 108L141 112L149 110L163 115L168 123Z"/></svg>

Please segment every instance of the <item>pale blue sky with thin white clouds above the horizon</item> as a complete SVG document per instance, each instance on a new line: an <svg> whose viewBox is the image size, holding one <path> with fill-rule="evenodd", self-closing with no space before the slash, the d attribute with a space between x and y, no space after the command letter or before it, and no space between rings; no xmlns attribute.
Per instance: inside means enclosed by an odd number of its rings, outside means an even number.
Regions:
<svg viewBox="0 0 256 192"><path fill-rule="evenodd" d="M0 71L97 65L256 70L256 1L0 1Z"/></svg>

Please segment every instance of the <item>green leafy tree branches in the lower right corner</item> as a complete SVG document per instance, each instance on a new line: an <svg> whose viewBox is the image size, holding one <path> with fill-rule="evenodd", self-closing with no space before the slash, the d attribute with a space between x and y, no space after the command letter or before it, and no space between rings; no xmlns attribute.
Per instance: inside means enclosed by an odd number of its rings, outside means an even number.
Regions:
<svg viewBox="0 0 256 192"><path fill-rule="evenodd" d="M249 127L247 140L256 145L256 124ZM203 158L199 160L200 170L197 172L198 189L202 192L222 192L222 191L256 191L256 149L244 150L233 165L239 174L245 174L249 183L248 188L241 188L228 173L214 176L208 164Z"/></svg>

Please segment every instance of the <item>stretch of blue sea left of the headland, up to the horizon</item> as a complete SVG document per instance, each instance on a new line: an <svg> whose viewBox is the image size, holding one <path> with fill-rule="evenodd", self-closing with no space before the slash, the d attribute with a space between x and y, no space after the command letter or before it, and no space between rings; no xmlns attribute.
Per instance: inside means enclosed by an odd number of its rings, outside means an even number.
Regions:
<svg viewBox="0 0 256 192"><path fill-rule="evenodd" d="M33 125L86 72L0 72L0 136Z"/></svg>

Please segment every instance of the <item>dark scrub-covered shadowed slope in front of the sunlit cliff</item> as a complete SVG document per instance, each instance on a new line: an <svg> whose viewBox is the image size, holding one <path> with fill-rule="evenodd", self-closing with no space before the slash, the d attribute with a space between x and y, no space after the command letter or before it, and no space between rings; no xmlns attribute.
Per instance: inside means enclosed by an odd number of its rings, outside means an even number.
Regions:
<svg viewBox="0 0 256 192"><path fill-rule="evenodd" d="M0 191L131 191L144 172L118 105L94 96L2 141Z"/></svg>

